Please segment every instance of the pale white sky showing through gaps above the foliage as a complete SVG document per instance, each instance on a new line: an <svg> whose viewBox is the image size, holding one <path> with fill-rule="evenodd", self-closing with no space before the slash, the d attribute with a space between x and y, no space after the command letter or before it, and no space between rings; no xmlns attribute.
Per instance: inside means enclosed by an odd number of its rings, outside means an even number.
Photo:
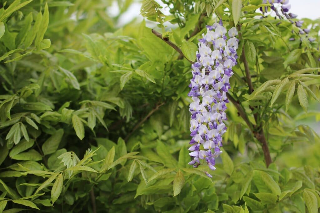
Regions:
<svg viewBox="0 0 320 213"><path fill-rule="evenodd" d="M136 0L135 3L133 3L124 14L122 14L118 23L120 26L130 22L130 20L135 17L142 19L142 17L139 15L141 7L140 2L141 1ZM156 0L156 2L163 5L160 0ZM320 0L290 0L289 3L291 4L290 12L297 14L297 18L320 18ZM119 12L119 8L116 4L114 4L108 10L108 12L111 16L116 15ZM167 14L166 11L164 11L164 13Z"/></svg>

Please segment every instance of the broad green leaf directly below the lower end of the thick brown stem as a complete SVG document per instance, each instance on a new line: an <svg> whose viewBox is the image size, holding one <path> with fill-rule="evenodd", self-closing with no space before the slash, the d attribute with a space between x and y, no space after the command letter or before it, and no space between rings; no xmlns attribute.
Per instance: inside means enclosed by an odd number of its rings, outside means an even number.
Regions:
<svg viewBox="0 0 320 213"><path fill-rule="evenodd" d="M257 186L259 192L272 192L273 194L280 195L281 190L279 185L272 177L264 171L254 171L253 175L254 184Z"/></svg>

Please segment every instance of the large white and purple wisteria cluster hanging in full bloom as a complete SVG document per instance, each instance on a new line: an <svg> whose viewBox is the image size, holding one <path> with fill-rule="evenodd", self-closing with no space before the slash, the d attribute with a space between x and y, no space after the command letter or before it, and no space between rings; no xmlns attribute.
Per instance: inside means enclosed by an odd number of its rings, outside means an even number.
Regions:
<svg viewBox="0 0 320 213"><path fill-rule="evenodd" d="M189 164L193 167L198 167L203 159L211 170L215 170L215 158L222 152L222 135L227 131L223 121L227 119L224 111L228 103L229 78L233 75L232 67L237 64L239 42L235 27L228 31L229 38L226 34L222 20L207 26L207 33L198 43L197 60L191 65L191 91L188 95L193 102L190 103L192 146L189 155L194 159Z"/></svg>

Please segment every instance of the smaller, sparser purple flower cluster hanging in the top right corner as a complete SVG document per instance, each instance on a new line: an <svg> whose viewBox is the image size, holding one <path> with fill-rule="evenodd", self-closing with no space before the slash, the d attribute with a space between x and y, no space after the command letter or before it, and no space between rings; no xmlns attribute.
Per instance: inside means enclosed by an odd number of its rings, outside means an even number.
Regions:
<svg viewBox="0 0 320 213"><path fill-rule="evenodd" d="M293 21L291 19L294 19L294 18L297 18L298 15L296 14L293 14L291 12L289 12L290 8L291 8L291 4L289 4L289 0L263 0L263 4L271 4L270 8L271 10L275 11L276 13L276 16L279 18L279 19L283 19L283 17L279 14L277 8L276 8L276 4L281 4L281 12L282 14L292 23L294 24L296 27L298 27L299 31L298 31L298 34L305 34L306 37L308 37L308 33L310 32L310 29L308 28L302 28L302 24L303 24L303 21L302 20L298 20L298 21ZM262 11L263 13L265 11L268 10L268 7L264 7L264 8L260 8L260 11ZM293 33L293 30L292 30L292 33ZM290 41L294 41L295 39L292 37L289 39ZM310 42L314 42L316 39L315 38L308 38L308 40Z"/></svg>

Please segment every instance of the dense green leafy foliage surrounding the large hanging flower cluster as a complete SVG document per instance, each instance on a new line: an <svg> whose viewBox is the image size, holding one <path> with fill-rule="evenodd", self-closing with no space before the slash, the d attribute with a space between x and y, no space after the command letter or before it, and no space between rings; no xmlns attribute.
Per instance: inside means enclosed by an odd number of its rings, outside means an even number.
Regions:
<svg viewBox="0 0 320 213"><path fill-rule="evenodd" d="M162 2L170 15L143 0L145 20L119 27L132 0L1 1L0 213L318 212L319 19ZM211 171L188 165L188 85L220 19L239 48Z"/></svg>

